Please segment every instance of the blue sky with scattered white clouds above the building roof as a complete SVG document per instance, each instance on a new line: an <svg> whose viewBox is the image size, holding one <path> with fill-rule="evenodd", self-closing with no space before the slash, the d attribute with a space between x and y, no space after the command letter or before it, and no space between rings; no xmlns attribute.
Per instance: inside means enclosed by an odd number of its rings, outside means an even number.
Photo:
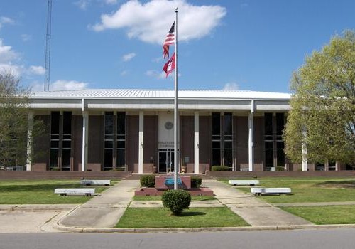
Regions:
<svg viewBox="0 0 355 249"><path fill-rule="evenodd" d="M50 90L174 89L162 44L176 7L179 89L290 92L306 56L355 28L354 0L53 0ZM33 91L43 90L47 9L0 0L0 73Z"/></svg>

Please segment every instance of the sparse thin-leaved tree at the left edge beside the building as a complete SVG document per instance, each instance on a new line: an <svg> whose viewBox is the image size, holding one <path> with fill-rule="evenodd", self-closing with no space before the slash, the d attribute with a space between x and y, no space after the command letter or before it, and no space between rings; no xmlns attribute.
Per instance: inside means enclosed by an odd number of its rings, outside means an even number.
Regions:
<svg viewBox="0 0 355 249"><path fill-rule="evenodd" d="M27 153L28 107L30 91L23 88L19 78L9 72L0 73L0 169L26 165L33 157ZM33 134L42 122L33 122Z"/></svg>

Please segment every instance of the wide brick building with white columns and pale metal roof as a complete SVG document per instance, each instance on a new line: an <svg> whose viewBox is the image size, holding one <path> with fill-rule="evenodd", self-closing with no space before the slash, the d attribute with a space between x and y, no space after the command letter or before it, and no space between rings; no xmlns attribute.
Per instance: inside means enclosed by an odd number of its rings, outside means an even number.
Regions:
<svg viewBox="0 0 355 249"><path fill-rule="evenodd" d="M232 171L318 169L285 159L289 100L288 93L179 90L178 170L201 174L217 165ZM146 174L174 169L173 90L35 92L28 118L46 126L28 147L36 157L27 170Z"/></svg>

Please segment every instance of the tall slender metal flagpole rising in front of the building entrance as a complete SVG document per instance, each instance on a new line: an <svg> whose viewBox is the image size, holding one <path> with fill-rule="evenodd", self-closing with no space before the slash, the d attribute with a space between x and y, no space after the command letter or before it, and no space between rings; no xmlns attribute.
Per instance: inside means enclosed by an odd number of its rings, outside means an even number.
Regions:
<svg viewBox="0 0 355 249"><path fill-rule="evenodd" d="M178 189L178 8L175 9L174 189Z"/></svg>

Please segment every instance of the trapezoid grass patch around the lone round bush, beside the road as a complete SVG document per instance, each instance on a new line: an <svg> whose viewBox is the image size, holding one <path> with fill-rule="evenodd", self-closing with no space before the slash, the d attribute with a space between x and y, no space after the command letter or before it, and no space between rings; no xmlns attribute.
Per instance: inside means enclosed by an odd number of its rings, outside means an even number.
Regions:
<svg viewBox="0 0 355 249"><path fill-rule="evenodd" d="M249 226L229 208L190 208L173 216L168 208L127 208L116 228L205 228Z"/></svg>

